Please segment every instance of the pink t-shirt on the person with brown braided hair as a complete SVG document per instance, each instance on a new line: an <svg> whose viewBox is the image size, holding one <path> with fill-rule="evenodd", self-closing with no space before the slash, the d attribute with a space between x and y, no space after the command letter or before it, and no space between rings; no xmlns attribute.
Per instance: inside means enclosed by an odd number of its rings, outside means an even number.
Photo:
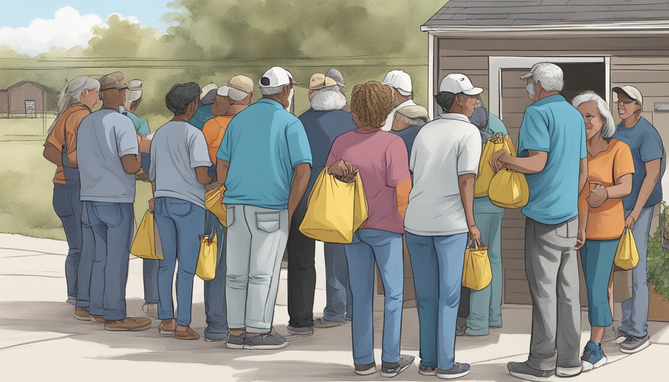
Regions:
<svg viewBox="0 0 669 382"><path fill-rule="evenodd" d="M411 179L408 157L402 138L380 129L349 131L332 143L326 166L340 159L350 162L359 169L365 185L369 218L361 229L404 233L395 187Z"/></svg>

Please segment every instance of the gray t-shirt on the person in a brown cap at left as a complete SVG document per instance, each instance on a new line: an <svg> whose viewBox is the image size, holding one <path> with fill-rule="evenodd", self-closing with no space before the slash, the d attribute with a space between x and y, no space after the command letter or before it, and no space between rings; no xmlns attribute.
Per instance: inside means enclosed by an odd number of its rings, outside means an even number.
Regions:
<svg viewBox="0 0 669 382"><path fill-rule="evenodd" d="M77 163L82 201L134 203L134 175L121 163L137 155L132 120L116 110L102 109L84 118L77 130Z"/></svg>

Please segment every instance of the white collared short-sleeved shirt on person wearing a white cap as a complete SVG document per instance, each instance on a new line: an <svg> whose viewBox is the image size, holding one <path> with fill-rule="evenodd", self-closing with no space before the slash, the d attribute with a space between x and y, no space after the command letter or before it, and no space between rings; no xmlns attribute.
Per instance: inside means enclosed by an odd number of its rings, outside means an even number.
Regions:
<svg viewBox="0 0 669 382"><path fill-rule="evenodd" d="M458 177L476 175L480 157L481 136L466 116L442 114L425 124L413 141L409 157L413 188L405 229L423 236L468 232Z"/></svg>

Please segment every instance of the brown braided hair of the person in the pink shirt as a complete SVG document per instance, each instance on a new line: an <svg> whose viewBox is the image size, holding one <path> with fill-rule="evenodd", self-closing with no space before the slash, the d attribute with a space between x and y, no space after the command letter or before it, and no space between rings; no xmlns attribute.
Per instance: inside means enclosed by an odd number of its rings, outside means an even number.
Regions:
<svg viewBox="0 0 669 382"><path fill-rule="evenodd" d="M381 128L394 107L393 90L381 82L368 81L356 85L351 92L351 112L373 128Z"/></svg>

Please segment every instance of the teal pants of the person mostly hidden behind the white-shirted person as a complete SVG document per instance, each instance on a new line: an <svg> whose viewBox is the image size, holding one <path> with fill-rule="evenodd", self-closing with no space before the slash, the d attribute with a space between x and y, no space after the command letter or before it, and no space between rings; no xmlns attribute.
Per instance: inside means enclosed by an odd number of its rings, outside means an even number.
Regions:
<svg viewBox="0 0 669 382"><path fill-rule="evenodd" d="M488 200L479 201L479 199L487 198L474 199L474 219L476 227L481 231L483 244L488 246L492 282L482 290L462 287L463 293L458 315L467 317L466 333L472 336L488 335L490 326L502 325L502 217L504 217L504 209L492 205ZM481 209L484 212L480 211ZM498 209L498 212L492 212L495 209ZM469 304L467 301L462 301L467 299L467 294L469 294Z"/></svg>

